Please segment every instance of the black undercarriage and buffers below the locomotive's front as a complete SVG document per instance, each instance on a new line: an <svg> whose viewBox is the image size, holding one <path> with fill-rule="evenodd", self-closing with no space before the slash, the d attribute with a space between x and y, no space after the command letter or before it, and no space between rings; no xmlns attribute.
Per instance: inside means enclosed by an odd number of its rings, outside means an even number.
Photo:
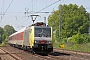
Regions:
<svg viewBox="0 0 90 60"><path fill-rule="evenodd" d="M35 44L33 50L36 53L50 53L53 51L52 44Z"/></svg>

